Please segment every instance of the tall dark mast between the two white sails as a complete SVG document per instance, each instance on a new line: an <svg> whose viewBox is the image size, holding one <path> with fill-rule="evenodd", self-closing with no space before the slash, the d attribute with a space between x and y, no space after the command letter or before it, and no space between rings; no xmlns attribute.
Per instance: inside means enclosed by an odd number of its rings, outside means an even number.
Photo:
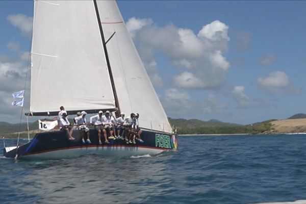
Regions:
<svg viewBox="0 0 306 204"><path fill-rule="evenodd" d="M98 24L99 24L99 30L100 30L100 35L101 35L102 43L103 43L103 48L104 48L107 68L108 68L108 71L109 71L110 80L111 80L111 84L112 84L112 89L113 89L113 93L114 93L115 106L116 106L116 108L118 108L118 110L115 112L115 114L116 114L116 117L119 117L120 116L120 107L119 107L119 103L118 103L118 97L117 97L117 92L116 92L116 88L115 88L113 73L112 73L112 69L111 69L110 60L109 60L109 57L108 57L108 52L107 52L107 48L106 48L106 42L105 42L105 38L104 38L104 34L103 34L102 24L101 24L100 15L99 15L99 11L98 11L98 6L97 6L96 0L93 0L93 4L94 4L94 9L95 9L95 12L96 12Z"/></svg>

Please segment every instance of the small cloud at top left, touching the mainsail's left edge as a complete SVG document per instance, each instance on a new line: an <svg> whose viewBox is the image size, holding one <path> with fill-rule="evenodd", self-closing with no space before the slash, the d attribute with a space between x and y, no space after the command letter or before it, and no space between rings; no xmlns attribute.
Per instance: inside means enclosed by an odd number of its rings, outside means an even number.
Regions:
<svg viewBox="0 0 306 204"><path fill-rule="evenodd" d="M31 36L33 17L25 16L23 14L14 14L7 16L7 20L18 28L23 35Z"/></svg>

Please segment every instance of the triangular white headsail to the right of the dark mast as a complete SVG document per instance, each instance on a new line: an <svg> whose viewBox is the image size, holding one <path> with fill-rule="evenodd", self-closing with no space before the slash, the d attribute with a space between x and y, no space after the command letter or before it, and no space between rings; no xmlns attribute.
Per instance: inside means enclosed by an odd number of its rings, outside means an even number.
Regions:
<svg viewBox="0 0 306 204"><path fill-rule="evenodd" d="M152 86L115 1L97 1L120 111L139 113L141 127L172 132L167 115Z"/></svg>

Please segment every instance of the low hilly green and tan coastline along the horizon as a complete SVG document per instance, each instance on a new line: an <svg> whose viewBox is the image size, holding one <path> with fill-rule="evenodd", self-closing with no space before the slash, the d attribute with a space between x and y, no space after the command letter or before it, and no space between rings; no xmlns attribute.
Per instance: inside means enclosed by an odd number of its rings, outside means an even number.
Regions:
<svg viewBox="0 0 306 204"><path fill-rule="evenodd" d="M266 120L253 124L235 124L219 120L202 121L198 119L173 119L168 118L179 135L200 134L294 134L306 133L306 114L295 114L284 120ZM38 132L38 122L29 124L30 135L33 137ZM0 122L0 136L6 138L17 137L19 124ZM28 137L27 124L20 124L20 136Z"/></svg>

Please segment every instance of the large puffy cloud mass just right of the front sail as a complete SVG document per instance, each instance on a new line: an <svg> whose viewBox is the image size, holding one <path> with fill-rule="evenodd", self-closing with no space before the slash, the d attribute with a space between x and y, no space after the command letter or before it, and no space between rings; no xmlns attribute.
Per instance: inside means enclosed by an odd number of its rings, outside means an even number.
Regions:
<svg viewBox="0 0 306 204"><path fill-rule="evenodd" d="M155 78L159 75L158 65L151 71L149 64L161 52L174 66L183 68L172 77L173 84L179 88L217 88L224 82L230 68L224 57L230 38L228 26L223 22L215 20L203 25L197 34L173 24L158 27L148 19L131 18L126 24L138 43L148 72L153 73L149 74L151 79L152 75Z"/></svg>

